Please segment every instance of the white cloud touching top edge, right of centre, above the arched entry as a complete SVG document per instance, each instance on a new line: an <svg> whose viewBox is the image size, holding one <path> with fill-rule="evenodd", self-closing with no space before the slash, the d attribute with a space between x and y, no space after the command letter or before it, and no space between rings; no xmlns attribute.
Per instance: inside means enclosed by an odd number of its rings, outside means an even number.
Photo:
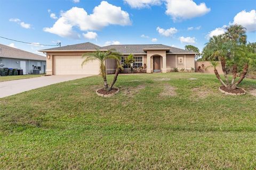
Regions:
<svg viewBox="0 0 256 170"><path fill-rule="evenodd" d="M172 16L174 21L178 19L191 19L202 16L211 11L205 3L197 5L192 0L165 0L167 15Z"/></svg>

